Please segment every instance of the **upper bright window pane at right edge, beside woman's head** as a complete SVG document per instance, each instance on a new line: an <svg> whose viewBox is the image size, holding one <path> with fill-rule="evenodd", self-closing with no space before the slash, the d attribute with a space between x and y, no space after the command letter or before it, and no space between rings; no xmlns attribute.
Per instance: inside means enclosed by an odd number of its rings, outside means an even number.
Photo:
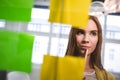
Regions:
<svg viewBox="0 0 120 80"><path fill-rule="evenodd" d="M107 39L120 39L120 16L107 16Z"/></svg>

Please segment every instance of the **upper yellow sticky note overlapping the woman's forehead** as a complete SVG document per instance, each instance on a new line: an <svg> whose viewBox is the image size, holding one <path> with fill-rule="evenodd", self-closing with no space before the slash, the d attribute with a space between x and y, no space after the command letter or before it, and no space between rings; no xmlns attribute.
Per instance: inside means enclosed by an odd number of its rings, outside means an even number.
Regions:
<svg viewBox="0 0 120 80"><path fill-rule="evenodd" d="M88 21L91 0L51 0L49 22L84 28Z"/></svg>

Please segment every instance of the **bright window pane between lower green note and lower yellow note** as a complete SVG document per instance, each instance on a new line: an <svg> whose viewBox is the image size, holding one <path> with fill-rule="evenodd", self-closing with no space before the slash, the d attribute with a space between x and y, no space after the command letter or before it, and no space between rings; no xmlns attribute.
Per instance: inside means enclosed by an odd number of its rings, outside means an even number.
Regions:
<svg viewBox="0 0 120 80"><path fill-rule="evenodd" d="M43 62L43 55L47 54L47 48L48 48L48 37L35 36L32 62L41 64Z"/></svg>

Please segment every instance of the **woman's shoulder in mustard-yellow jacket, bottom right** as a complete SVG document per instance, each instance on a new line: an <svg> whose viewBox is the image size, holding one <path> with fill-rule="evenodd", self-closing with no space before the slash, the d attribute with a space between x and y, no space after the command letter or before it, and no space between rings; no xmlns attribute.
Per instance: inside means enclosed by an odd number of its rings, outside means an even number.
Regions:
<svg viewBox="0 0 120 80"><path fill-rule="evenodd" d="M98 80L115 80L115 76L105 69L99 69L95 67L95 71Z"/></svg>

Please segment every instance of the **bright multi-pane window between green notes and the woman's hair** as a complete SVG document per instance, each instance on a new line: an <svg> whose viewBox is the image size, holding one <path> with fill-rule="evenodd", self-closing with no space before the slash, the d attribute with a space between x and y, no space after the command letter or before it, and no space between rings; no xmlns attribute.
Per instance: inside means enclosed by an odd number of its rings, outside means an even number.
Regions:
<svg viewBox="0 0 120 80"><path fill-rule="evenodd" d="M71 26L50 23L48 18L48 9L33 8L32 21L27 26L27 32L35 34L33 63L41 64L44 54L61 57L65 54Z"/></svg>

